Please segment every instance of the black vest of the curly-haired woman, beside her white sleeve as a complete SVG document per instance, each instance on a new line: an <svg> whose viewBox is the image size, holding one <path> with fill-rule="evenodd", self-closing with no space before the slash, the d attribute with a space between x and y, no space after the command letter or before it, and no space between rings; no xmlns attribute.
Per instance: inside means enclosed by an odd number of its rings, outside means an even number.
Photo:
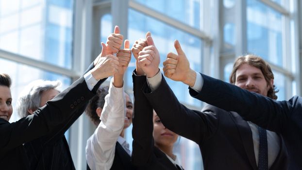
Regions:
<svg viewBox="0 0 302 170"><path fill-rule="evenodd" d="M87 164L87 170L90 170ZM114 160L110 170L136 170L131 163L130 155L117 142Z"/></svg>

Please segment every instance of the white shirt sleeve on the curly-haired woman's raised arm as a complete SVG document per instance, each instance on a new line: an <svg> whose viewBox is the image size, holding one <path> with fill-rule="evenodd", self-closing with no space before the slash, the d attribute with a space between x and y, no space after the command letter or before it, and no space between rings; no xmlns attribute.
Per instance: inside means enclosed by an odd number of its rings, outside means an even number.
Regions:
<svg viewBox="0 0 302 170"><path fill-rule="evenodd" d="M110 170L116 142L124 127L125 103L124 87L115 87L112 78L101 112L101 123L86 144L86 159L91 170Z"/></svg>

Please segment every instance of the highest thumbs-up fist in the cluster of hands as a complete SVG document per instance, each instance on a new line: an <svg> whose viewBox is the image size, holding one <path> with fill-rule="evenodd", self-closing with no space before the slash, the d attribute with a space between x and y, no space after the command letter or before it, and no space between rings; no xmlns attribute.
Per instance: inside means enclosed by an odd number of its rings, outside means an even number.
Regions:
<svg viewBox="0 0 302 170"><path fill-rule="evenodd" d="M115 26L114 33L107 38L106 46L108 54L117 53L123 43L123 35L120 34L119 27Z"/></svg>

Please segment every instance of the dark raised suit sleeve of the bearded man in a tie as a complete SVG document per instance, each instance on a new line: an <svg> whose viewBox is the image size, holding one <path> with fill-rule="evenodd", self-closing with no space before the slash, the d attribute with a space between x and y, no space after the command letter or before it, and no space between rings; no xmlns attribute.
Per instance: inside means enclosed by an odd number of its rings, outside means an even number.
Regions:
<svg viewBox="0 0 302 170"><path fill-rule="evenodd" d="M201 143L216 132L218 117L185 107L177 100L164 77L156 90L151 92L145 84L143 91L163 124L174 133Z"/></svg>

